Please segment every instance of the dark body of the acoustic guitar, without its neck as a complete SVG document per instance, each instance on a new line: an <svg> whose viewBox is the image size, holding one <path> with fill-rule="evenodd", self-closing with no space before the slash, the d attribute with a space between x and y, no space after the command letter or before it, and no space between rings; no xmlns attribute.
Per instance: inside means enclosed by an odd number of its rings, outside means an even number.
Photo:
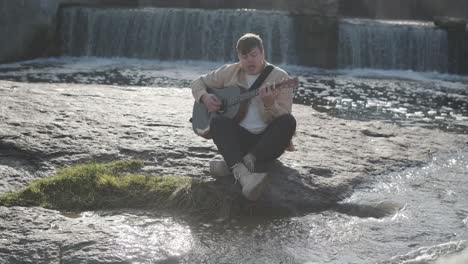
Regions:
<svg viewBox="0 0 468 264"><path fill-rule="evenodd" d="M216 95L221 102L222 106L220 111L218 112L208 112L208 109L203 103L197 103L193 105L193 113L192 113L192 128L195 134L202 136L206 139L211 138L210 136L210 122L211 119L216 115L222 115L230 119L239 118L240 112L239 111L243 104L233 104L228 105L228 100L232 98L237 98L241 95L242 89L236 86L233 87L226 87L222 89L207 89L208 93Z"/></svg>

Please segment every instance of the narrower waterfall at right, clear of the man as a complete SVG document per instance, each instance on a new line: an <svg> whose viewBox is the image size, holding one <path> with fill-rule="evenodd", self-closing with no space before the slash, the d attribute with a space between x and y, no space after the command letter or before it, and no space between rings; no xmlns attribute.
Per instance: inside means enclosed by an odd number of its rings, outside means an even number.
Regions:
<svg viewBox="0 0 468 264"><path fill-rule="evenodd" d="M344 19L339 68L448 71L447 32L430 23Z"/></svg>

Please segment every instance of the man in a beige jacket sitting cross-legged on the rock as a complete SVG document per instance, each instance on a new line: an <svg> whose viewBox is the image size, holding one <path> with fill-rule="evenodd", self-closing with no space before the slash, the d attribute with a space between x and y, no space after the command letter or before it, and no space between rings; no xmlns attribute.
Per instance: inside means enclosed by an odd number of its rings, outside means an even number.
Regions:
<svg viewBox="0 0 468 264"><path fill-rule="evenodd" d="M255 34L245 34L237 41L239 62L227 64L202 75L193 81L191 88L195 100L203 103L209 112L220 110L221 101L207 88L238 86L249 89L267 65L262 39ZM259 95L249 102L247 113L240 121L221 115L210 122L210 134L224 161L211 161L214 177L234 174L242 185L242 193L249 200L261 194L266 173L256 173L255 163L277 159L288 148L296 130L296 120L291 115L292 89L273 89L288 74L274 67L259 90Z"/></svg>

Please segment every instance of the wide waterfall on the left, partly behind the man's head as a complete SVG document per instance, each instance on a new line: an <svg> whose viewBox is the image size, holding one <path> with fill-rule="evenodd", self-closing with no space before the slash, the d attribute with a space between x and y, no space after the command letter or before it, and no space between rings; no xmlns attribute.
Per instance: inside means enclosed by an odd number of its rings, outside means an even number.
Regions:
<svg viewBox="0 0 468 264"><path fill-rule="evenodd" d="M66 7L60 19L66 56L236 61L237 39L252 32L267 60L295 62L293 22L284 12Z"/></svg>

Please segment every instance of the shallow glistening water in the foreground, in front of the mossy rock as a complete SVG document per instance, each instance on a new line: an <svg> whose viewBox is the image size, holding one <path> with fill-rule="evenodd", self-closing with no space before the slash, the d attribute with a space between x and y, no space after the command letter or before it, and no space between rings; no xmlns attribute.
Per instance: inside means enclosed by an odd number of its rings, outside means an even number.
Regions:
<svg viewBox="0 0 468 264"><path fill-rule="evenodd" d="M333 211L284 219L190 223L169 216L83 213L83 224L116 232L116 254L132 263L447 263L468 259L468 152L381 175L350 202L404 205L382 219ZM466 262L456 262L459 264Z"/></svg>

